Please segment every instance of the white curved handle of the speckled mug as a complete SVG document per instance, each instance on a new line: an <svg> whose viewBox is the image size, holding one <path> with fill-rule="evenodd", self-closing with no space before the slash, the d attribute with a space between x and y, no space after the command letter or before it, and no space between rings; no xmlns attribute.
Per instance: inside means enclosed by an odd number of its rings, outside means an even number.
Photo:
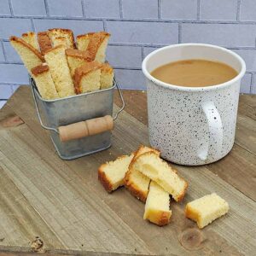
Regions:
<svg viewBox="0 0 256 256"><path fill-rule="evenodd" d="M202 102L201 108L207 117L209 140L202 145L197 155L201 160L207 160L210 155L221 153L223 143L223 125L218 109L213 102Z"/></svg>

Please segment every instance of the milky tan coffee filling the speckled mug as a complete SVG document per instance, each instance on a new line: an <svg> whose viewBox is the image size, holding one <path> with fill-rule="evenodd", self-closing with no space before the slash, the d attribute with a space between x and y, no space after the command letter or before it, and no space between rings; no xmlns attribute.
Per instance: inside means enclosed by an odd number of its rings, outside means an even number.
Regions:
<svg viewBox="0 0 256 256"><path fill-rule="evenodd" d="M166 84L204 87L234 79L237 72L233 67L218 61L185 60L157 67L151 75Z"/></svg>

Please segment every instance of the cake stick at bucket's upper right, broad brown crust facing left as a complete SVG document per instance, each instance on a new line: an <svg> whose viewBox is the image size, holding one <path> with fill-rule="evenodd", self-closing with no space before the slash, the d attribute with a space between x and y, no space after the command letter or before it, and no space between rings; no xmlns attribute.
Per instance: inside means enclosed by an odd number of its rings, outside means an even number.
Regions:
<svg viewBox="0 0 256 256"><path fill-rule="evenodd" d="M104 62L106 57L106 49L108 46L108 32L96 32L90 36L90 41L87 49L93 60Z"/></svg>

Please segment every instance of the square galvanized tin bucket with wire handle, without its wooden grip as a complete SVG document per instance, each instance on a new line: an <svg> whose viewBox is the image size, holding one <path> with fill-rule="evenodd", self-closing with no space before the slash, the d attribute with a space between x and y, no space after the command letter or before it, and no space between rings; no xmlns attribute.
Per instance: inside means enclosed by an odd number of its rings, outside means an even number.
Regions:
<svg viewBox="0 0 256 256"><path fill-rule="evenodd" d="M115 79L111 88L56 100L44 100L39 95L32 78L30 78L30 84L40 124L44 129L50 131L52 143L61 159L73 160L87 154L94 154L111 146L111 131L104 131L63 143L59 137L58 127L106 115L112 116L113 90L115 88L118 89L123 102L122 108L113 117L113 120L117 119L118 114L125 108L125 102Z"/></svg>

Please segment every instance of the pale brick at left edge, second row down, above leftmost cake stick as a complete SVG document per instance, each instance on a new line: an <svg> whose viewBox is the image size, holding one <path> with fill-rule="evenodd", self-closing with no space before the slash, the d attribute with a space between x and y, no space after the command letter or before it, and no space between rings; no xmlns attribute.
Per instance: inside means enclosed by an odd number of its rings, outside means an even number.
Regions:
<svg viewBox="0 0 256 256"><path fill-rule="evenodd" d="M11 35L19 37L22 33L32 31L31 20L0 18L0 38L9 39Z"/></svg>

